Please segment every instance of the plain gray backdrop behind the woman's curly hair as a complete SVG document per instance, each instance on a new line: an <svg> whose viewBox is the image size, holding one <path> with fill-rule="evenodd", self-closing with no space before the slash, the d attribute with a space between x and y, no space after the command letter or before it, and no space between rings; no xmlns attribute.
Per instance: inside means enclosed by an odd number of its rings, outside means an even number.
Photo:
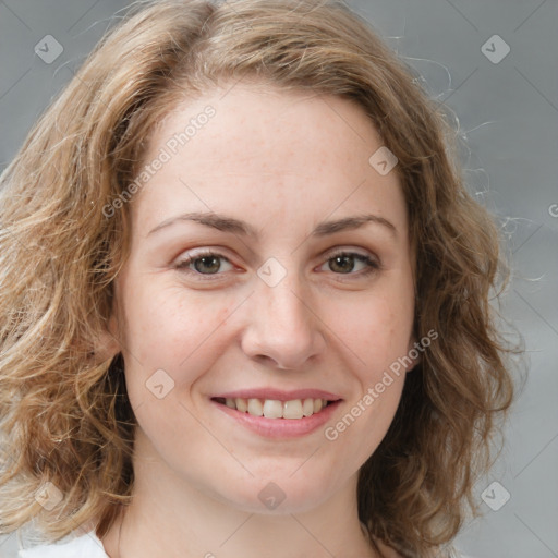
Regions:
<svg viewBox="0 0 558 558"><path fill-rule="evenodd" d="M504 490L510 499L498 511L483 502L485 515L468 523L458 546L478 558L558 557L558 3L348 3L454 112L469 146L462 156L470 187L501 219L512 256L504 310L524 337L529 377L506 429L506 447L476 490L481 499L496 481L493 501ZM0 171L114 14L129 4L0 0ZM46 35L63 47L52 63L34 51ZM505 52L494 35L510 48L498 63L485 56L496 60ZM0 537L0 558L14 556L15 548L15 534Z"/></svg>

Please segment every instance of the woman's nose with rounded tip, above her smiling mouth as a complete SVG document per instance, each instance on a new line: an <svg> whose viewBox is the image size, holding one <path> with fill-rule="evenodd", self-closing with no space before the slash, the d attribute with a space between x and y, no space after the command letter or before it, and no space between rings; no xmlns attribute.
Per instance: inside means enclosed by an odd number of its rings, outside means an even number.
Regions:
<svg viewBox="0 0 558 558"><path fill-rule="evenodd" d="M299 281L284 278L275 287L259 281L250 301L241 342L247 356L276 368L298 369L324 352L319 308L312 307Z"/></svg>

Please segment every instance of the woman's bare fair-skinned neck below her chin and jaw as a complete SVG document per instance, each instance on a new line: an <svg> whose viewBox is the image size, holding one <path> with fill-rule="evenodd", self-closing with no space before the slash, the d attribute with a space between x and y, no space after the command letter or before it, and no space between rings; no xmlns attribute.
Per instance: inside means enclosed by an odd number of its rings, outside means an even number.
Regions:
<svg viewBox="0 0 558 558"><path fill-rule="evenodd" d="M110 558L374 558L361 530L356 475L315 509L250 513L179 477L136 436L134 498L102 543Z"/></svg>

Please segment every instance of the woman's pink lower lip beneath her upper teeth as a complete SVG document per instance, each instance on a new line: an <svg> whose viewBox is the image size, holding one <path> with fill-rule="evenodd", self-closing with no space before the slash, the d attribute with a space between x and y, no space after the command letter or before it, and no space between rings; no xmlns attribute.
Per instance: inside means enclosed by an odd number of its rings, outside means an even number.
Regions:
<svg viewBox="0 0 558 558"><path fill-rule="evenodd" d="M312 434L331 418L341 400L329 403L319 413L302 418L266 418L254 416L250 413L241 413L235 409L213 401L223 413L238 421L242 426L266 438L300 438Z"/></svg>

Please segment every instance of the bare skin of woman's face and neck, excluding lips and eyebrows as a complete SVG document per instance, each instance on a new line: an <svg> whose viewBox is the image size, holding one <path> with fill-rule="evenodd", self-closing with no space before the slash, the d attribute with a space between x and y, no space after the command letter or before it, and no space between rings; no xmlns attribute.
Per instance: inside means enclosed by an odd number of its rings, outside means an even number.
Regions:
<svg viewBox="0 0 558 558"><path fill-rule="evenodd" d="M408 353L413 258L399 179L368 163L383 144L355 104L254 84L226 92L184 101L160 123L146 162L206 106L216 110L132 202L110 324L138 421L135 498L102 543L111 558L377 556L359 524L357 473L393 418L404 372L335 441L324 427L268 439L209 398L324 389L342 398L325 425L335 426ZM186 220L149 233L192 211L245 221L256 235ZM312 234L363 214L395 230ZM177 268L201 248L226 258L209 279L193 263ZM349 258L340 272L339 248L379 267ZM257 275L270 257L286 272L275 287ZM146 387L157 369L174 381L162 399ZM274 510L258 498L269 482L286 495Z"/></svg>

